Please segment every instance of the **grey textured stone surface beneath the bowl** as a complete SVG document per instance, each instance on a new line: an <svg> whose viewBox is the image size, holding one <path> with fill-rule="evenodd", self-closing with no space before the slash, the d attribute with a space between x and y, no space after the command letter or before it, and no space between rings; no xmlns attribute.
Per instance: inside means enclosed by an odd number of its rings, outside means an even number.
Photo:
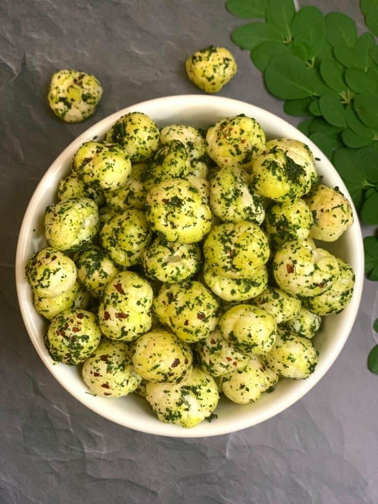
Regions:
<svg viewBox="0 0 378 504"><path fill-rule="evenodd" d="M364 30L357 0L307 3ZM239 21L223 0L3 0L0 19L0 503L376 504L378 378L366 369L376 284L366 282L348 342L314 389L261 425L209 439L154 437L92 413L48 373L21 320L14 258L24 211L50 163L91 124L145 99L197 93L183 61L209 43L239 65L222 95L284 117L231 44ZM65 67L104 88L83 124L59 122L46 104L51 74Z"/></svg>

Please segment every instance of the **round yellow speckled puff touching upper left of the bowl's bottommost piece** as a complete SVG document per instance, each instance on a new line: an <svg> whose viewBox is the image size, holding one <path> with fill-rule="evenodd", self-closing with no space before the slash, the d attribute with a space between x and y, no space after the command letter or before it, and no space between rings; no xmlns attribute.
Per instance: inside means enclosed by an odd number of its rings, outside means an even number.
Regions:
<svg viewBox="0 0 378 504"><path fill-rule="evenodd" d="M179 383L192 363L191 348L168 331L150 331L134 344L134 368L149 382Z"/></svg>

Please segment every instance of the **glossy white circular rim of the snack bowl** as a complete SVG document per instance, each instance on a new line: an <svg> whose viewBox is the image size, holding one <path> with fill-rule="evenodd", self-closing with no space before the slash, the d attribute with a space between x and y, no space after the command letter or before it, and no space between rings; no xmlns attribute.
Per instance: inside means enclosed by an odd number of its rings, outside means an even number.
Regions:
<svg viewBox="0 0 378 504"><path fill-rule="evenodd" d="M322 377L325 375L325 373L328 371L328 369L332 366L334 361L336 360L337 356L339 355L340 351L344 347L346 340L351 332L352 326L354 324L354 321L357 316L357 311L358 307L360 304L360 298L361 298L361 293L362 293L362 286L363 286L363 278L364 278L364 256L363 256L363 242L362 242L362 233L361 233L361 228L358 222L358 219L355 219L355 223L353 224L354 227L354 233L356 238L354 240L354 254L356 256L356 264L357 268L355 268L355 274L356 274L356 280L355 280L355 285L354 285L354 293L352 300L350 302L350 307L351 307L351 314L349 318L347 319L346 322L344 322L344 327L343 327L343 334L342 337L340 337L337 340L337 345L335 346L334 351L332 354L328 357L326 361L322 362L322 365L317 366L316 371L311 374L306 380L303 380L303 386L301 388L298 388L294 392L291 393L290 400L285 400L285 401L280 401L279 398L278 400L273 404L270 405L267 408L267 411L263 414L261 413L257 421L252 420L244 420L244 419L233 419L232 422L230 422L230 426L226 426L223 428L220 428L219 426L217 427L216 422L211 425L209 428L209 432L200 432L196 433L196 428L193 429L183 429L178 427L176 425L172 424L164 424L161 423L161 428L159 429L155 424L154 428L148 428L145 425L136 425L135 422L128 421L127 417L124 417L124 421L119 421L117 419L113 418L113 415L111 413L108 413L107 411L104 411L104 409L101 407L101 404L96 406L95 404L91 403L90 401L87 400L87 397L83 397L81 394L76 392L76 390L72 387L70 387L63 379L61 379L59 372L58 372L58 366L54 365L49 358L49 356L46 355L45 349L42 345L38 342L37 336L38 333L35 329L35 327L32 324L31 317L28 313L27 310L27 303L26 300L23 298L23 292L22 292L22 285L25 282L25 264L24 264L24 257L25 257L25 247L26 247L26 236L27 236L27 231L29 228L29 224L31 221L31 216L33 214L34 208L36 207L41 195L44 194L44 187L47 185L48 180L53 176L53 174L58 171L60 168L61 164L66 161L66 158L70 154L72 155L73 152L77 150L77 148L85 141L88 141L89 139L92 139L93 137L96 136L97 131L101 130L105 125L111 124L112 122L115 122L121 115L127 114L129 112L133 111L138 111L138 108L146 107L146 106L153 106L153 105L161 105L164 102L170 102L170 106L174 105L175 103L180 104L183 101L192 101L194 102L197 106L201 105L201 103L205 105L209 105L209 103L214 102L214 104L218 103L220 107L222 107L221 103L228 104L228 105L234 105L242 107L242 106L247 106L249 110L256 109L258 110L261 114L263 114L265 117L267 117L270 120L277 121L278 123L281 123L285 127L287 127L289 130L295 129L296 130L296 139L299 141L304 142L306 145L308 145L311 149L311 151L314 153L315 157L319 157L319 155L322 156L322 165L325 166L325 169L328 171L330 170L333 172L334 178L339 179L339 186L341 187L342 192L348 197L350 204L352 206L353 210L353 215L357 216L356 209L353 205L353 201L349 195L349 192L342 181L340 175L337 173L336 169L332 165L332 163L328 160L328 158L323 154L323 152L315 145L313 142L311 142L310 139L308 139L304 134L299 132L292 124L287 122L285 119L273 114L272 112L269 112L268 110L265 110L261 107L258 107L256 105L253 105L251 103L241 101L241 100L236 100L232 98L226 98L226 97L221 97L221 96L213 96L213 95L200 95L200 94L191 94L191 95L171 95L171 96L163 96L159 98L154 98L151 100L146 100L143 102L139 102L136 104L133 104L131 106L122 108L121 110L118 110L107 117L104 117L100 121L96 122L93 124L91 127L89 127L87 130L85 130L81 135L79 135L76 139L74 139L60 154L59 156L51 163L49 168L46 170L44 175L42 176L41 180L39 181L37 187L34 190L34 193L29 201L29 204L27 206L27 209L25 211L20 232L19 232L19 237L18 237L18 242L17 242L17 250L16 250L16 267L15 267L15 276L16 276L16 289L17 289L17 296L18 296L18 302L20 305L20 310L22 314L22 318L24 321L25 328L28 332L28 335L33 343L34 348L36 349L39 357L41 358L42 362L45 364L47 369L50 371L50 373L55 377L55 379L59 382L59 384L64 387L67 392L70 393L75 399L80 401L83 405L94 411L95 413L99 414L100 416L118 423L119 425L122 425L124 427L128 427L140 432L145 432L145 433L150 433L150 434L155 434L155 435L163 435L163 436L168 436L168 437L210 437L214 435L223 435L223 434L228 434L230 432L236 432L238 430L251 427L253 425L257 425L265 420L268 420L269 418L272 418L273 416L277 415L278 413L284 411L288 407L290 407L292 404L294 404L296 401L298 401L301 397L303 397L314 385L316 385ZM173 102L173 103L172 103ZM249 114L248 112L248 115ZM254 417L252 414L251 417Z"/></svg>

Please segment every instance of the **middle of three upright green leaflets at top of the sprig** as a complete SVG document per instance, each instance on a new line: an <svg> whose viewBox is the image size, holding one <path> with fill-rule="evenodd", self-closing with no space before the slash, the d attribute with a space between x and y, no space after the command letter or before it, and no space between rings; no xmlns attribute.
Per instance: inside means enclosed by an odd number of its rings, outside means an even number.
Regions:
<svg viewBox="0 0 378 504"><path fill-rule="evenodd" d="M309 57L317 56L323 49L326 38L326 22L323 14L316 7L302 7L294 16L291 24L294 38L307 42L311 48Z"/></svg>

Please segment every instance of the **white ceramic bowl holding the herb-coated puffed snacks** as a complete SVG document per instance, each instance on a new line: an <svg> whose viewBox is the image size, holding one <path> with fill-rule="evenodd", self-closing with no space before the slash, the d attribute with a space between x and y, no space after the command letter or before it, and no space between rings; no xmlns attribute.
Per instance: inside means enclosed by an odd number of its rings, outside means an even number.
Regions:
<svg viewBox="0 0 378 504"><path fill-rule="evenodd" d="M256 404L240 406L223 398L216 410L217 420L212 423L205 420L192 429L160 422L150 412L147 402L135 394L119 399L93 397L87 393L88 389L77 367L54 364L48 355L43 344L47 324L33 306L32 292L26 282L24 268L34 251L46 243L43 233L44 210L54 201L59 180L69 173L75 151L83 142L92 140L95 136L101 138L119 116L132 111L145 112L157 122L159 128L180 123L206 128L224 117L241 113L255 117L268 139L286 137L307 143L314 156L320 158L317 169L320 175L324 175L324 181L331 186L339 186L348 196L340 176L316 145L288 122L254 105L217 96L183 95L157 98L120 110L101 120L72 142L52 163L30 200L21 226L16 256L17 293L26 329L39 356L56 380L85 406L120 425L142 432L177 437L213 436L256 425L280 413L306 394L330 368L348 338L358 310L363 282L363 247L357 214L354 210L353 226L337 243L322 244L353 266L356 283L348 307L336 316L327 317L321 333L314 338L320 352L319 364L307 380L282 380L274 392L263 394Z"/></svg>

